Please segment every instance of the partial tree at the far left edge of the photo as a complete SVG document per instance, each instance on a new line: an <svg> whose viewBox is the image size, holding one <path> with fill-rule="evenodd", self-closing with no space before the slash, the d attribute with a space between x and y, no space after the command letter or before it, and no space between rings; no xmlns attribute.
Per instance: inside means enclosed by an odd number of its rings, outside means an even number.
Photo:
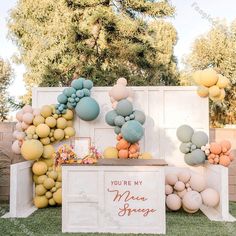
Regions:
<svg viewBox="0 0 236 236"><path fill-rule="evenodd" d="M8 62L0 58L0 121L7 119L9 112L7 89L12 82L12 69Z"/></svg>

